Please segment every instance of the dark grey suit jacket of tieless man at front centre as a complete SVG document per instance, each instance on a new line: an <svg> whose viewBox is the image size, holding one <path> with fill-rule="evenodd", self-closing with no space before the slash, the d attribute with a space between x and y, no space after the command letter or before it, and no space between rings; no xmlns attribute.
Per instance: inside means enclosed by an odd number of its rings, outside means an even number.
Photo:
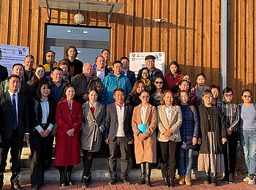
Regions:
<svg viewBox="0 0 256 190"><path fill-rule="evenodd" d="M113 141L116 137L118 121L116 112L116 102L107 106L105 118L104 139ZM124 134L127 140L132 140L132 106L124 104Z"/></svg>

